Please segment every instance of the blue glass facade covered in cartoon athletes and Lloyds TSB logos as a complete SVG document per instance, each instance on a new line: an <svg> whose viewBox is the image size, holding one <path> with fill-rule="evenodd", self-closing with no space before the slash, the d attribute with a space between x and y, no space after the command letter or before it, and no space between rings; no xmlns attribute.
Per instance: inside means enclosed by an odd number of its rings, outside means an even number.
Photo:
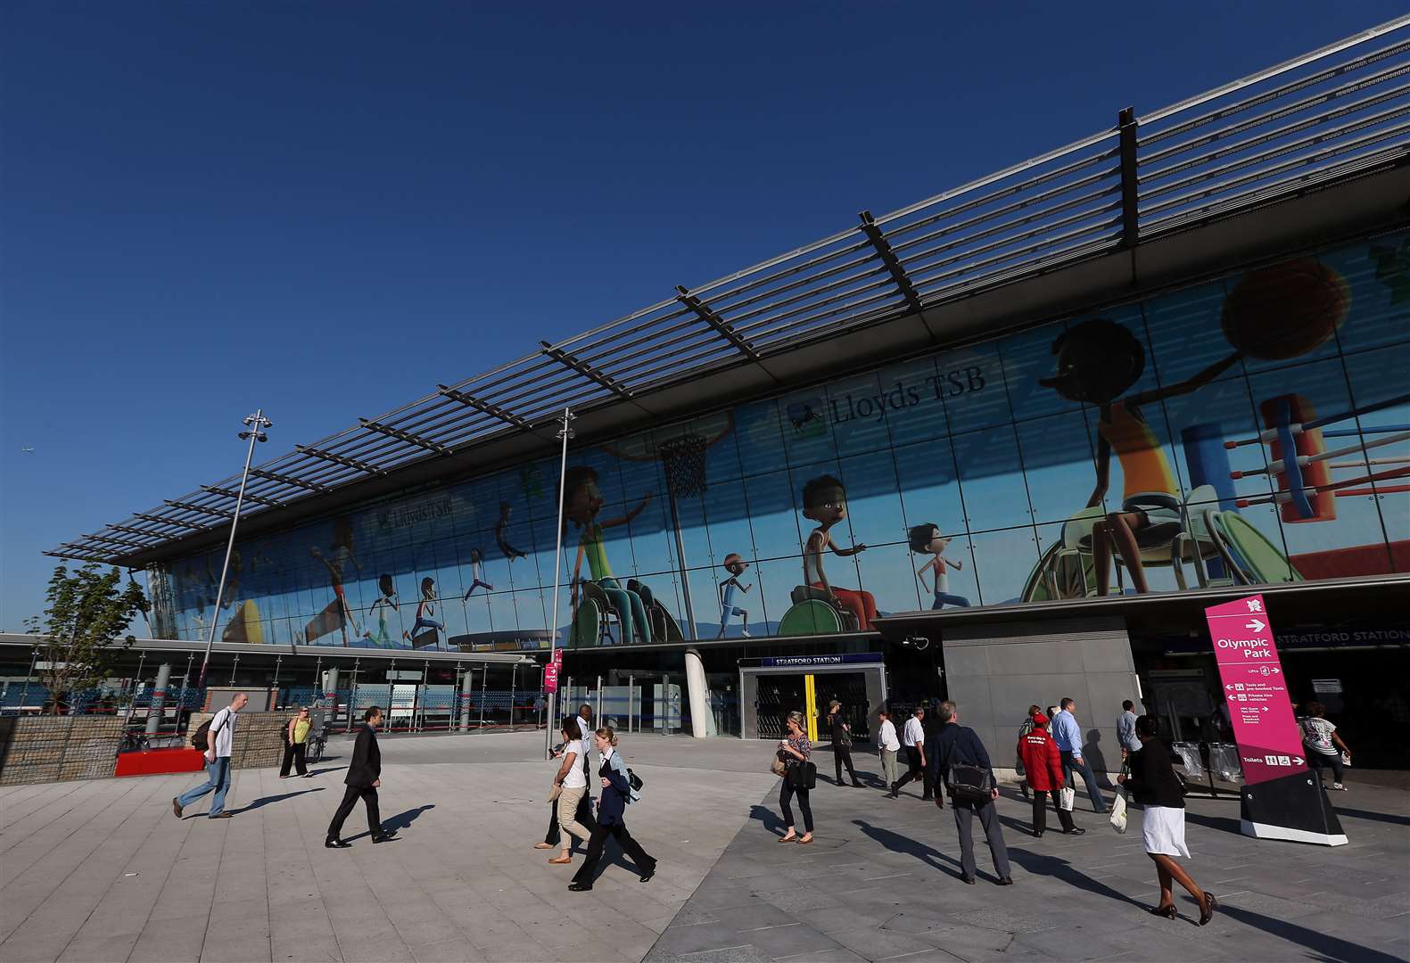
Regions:
<svg viewBox="0 0 1410 963"><path fill-rule="evenodd" d="M866 337L864 333L852 337ZM839 345L839 350L845 350ZM570 646L1410 571L1410 234L570 448ZM1290 457L1296 451L1296 457ZM157 629L547 647L547 458L152 572Z"/></svg>

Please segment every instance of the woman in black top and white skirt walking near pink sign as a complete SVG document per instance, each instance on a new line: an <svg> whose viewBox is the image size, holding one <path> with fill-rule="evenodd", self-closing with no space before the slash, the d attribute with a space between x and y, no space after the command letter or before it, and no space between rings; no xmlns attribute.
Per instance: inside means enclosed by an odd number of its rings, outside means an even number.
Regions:
<svg viewBox="0 0 1410 963"><path fill-rule="evenodd" d="M1176 856L1190 857L1184 845L1184 791L1170 766L1170 750L1156 736L1155 716L1136 719L1136 737L1141 752L1131 754L1131 775L1118 775L1131 797L1144 808L1141 816L1141 840L1146 854L1155 860L1155 871L1160 880L1160 905L1151 909L1158 916L1175 919L1175 894L1170 883L1176 881L1190 891L1200 904L1200 925L1214 918L1220 901L1213 893L1206 893L1184 871Z"/></svg>

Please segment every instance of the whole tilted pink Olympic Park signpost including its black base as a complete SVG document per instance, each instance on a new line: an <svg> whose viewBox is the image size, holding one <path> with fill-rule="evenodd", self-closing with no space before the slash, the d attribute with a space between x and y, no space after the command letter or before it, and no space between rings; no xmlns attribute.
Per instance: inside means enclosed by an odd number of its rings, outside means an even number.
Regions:
<svg viewBox="0 0 1410 963"><path fill-rule="evenodd" d="M1244 767L1242 830L1344 846L1337 814L1307 766L1262 595L1204 609Z"/></svg>

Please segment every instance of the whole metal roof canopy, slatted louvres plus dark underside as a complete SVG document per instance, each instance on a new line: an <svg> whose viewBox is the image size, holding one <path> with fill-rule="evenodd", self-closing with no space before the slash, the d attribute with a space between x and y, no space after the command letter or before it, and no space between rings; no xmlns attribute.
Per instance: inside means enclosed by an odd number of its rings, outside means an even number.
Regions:
<svg viewBox="0 0 1410 963"><path fill-rule="evenodd" d="M292 523L543 454L564 406L580 437L626 431L729 392L994 336L1032 323L1025 312L1046 320L1383 226L1406 197L1407 159L1410 16L1144 117L1127 109L1073 144L881 217L863 211L853 228L358 419L252 468L241 517L266 516L254 530ZM1365 188L1372 175L1385 183ZM1280 214L1292 199L1304 209ZM1217 241L1206 237L1215 224ZM866 344L838 351L835 338L862 327ZM45 554L142 567L195 551L226 530L238 484L203 485Z"/></svg>

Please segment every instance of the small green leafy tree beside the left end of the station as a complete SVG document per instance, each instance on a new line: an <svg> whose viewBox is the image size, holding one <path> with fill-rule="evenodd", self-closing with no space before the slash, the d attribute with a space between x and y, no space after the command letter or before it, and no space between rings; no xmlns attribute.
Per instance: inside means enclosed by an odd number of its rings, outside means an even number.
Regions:
<svg viewBox="0 0 1410 963"><path fill-rule="evenodd" d="M104 574L97 563L72 572L66 565L55 568L45 599L44 619L31 618L25 627L42 636L39 680L49 689L51 711L58 713L70 694L109 677L118 656L135 640L128 634L121 644L114 643L137 613L147 615L151 606L135 581L124 587L117 568Z"/></svg>

